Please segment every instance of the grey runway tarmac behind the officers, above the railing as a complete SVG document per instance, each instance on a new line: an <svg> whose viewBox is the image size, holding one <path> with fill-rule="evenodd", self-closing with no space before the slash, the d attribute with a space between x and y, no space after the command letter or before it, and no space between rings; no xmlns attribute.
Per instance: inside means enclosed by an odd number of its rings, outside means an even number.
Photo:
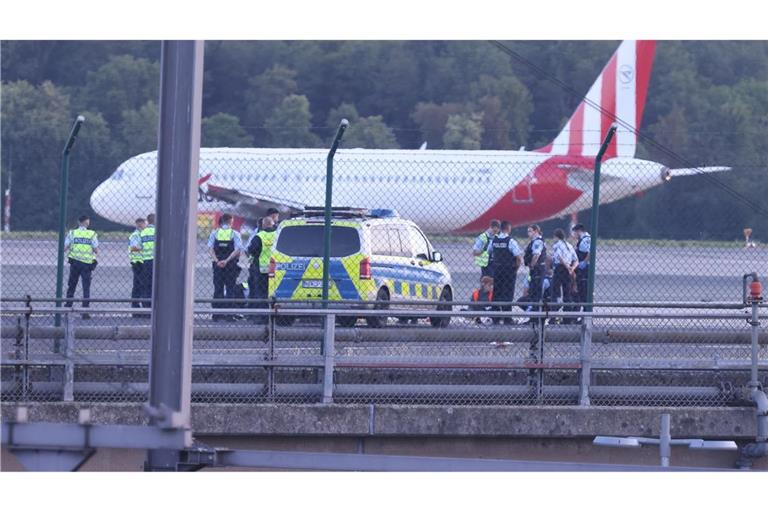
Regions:
<svg viewBox="0 0 768 512"><path fill-rule="evenodd" d="M469 300L477 286L479 269L473 265L471 246L458 242L438 242L451 271L455 300ZM49 298L56 290L55 240L0 241L0 295ZM102 241L99 266L94 272L91 296L94 298L130 297L132 274L128 265L127 243ZM595 300L739 302L742 275L757 272L768 275L768 247L658 247L652 245L606 245L598 247ZM247 275L247 262L241 259ZM65 267L68 265L65 264ZM68 268L65 268L66 288ZM212 271L204 242L198 242L195 296L213 295ZM518 273L516 297L522 293L524 272ZM80 295L80 290L76 296Z"/></svg>

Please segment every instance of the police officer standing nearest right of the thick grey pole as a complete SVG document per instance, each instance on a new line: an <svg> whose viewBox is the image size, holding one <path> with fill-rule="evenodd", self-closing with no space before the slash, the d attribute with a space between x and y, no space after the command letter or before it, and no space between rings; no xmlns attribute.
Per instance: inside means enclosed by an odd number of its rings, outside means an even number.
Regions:
<svg viewBox="0 0 768 512"><path fill-rule="evenodd" d="M211 232L208 237L208 252L211 255L213 267L213 298L234 299L237 276L240 267L237 260L243 248L240 233L231 227L232 216L225 213L219 220L219 227ZM214 303L215 309L231 308L232 304ZM215 322L221 320L233 320L232 315L213 315Z"/></svg>

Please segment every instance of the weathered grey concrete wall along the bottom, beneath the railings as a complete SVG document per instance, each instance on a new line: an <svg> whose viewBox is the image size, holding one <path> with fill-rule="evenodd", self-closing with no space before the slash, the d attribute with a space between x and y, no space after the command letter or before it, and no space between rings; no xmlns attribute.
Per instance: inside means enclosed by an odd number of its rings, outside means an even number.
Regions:
<svg viewBox="0 0 768 512"><path fill-rule="evenodd" d="M30 421L77 421L78 404L37 404ZM94 423L143 424L136 404L89 405ZM13 417L4 404L4 418ZM752 408L437 407L345 405L193 406L195 438L231 449L291 450L433 457L658 465L658 449L592 445L595 435L656 437L659 416L672 415L673 438L732 439L755 435ZM101 449L83 471L139 471L145 452ZM733 468L736 452L675 447L673 466ZM756 464L768 469L768 460ZM21 466L3 447L2 471Z"/></svg>

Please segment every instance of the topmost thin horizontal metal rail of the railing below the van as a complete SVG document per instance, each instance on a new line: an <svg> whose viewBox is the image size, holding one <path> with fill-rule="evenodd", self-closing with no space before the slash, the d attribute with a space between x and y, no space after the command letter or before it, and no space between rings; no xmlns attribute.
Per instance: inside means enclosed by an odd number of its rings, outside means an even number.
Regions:
<svg viewBox="0 0 768 512"><path fill-rule="evenodd" d="M31 304L31 303L39 303L39 302L51 302L51 303L62 303L62 302L80 302L82 299L76 298L76 299L70 299L70 298L42 298L42 297L28 297L28 298L16 298L16 297L0 297L0 302L2 303L21 303L21 304ZM91 303L131 303L136 302L135 298L120 298L120 297L106 297L106 298L89 298L89 302ZM151 302L151 300L147 301L146 299L142 299L143 302ZM200 299L196 298L194 299L194 302L197 304L226 304L226 303L263 303L265 299ZM319 306L324 303L322 300L269 300L270 304L276 307L284 308L286 306L291 305L301 305L301 304L307 304L312 306ZM327 301L329 304L333 305L360 305L360 306L373 306L376 304L375 301L364 301L364 300L343 300L343 301L334 301L329 300ZM413 300L390 300L388 301L388 304L390 306L499 306L499 305L512 305L512 306L549 306L549 307L560 307L563 304L562 303L556 303L556 302L518 302L518 301L507 301L507 302L471 302L471 301L430 301L430 300L424 300L424 301L413 301ZM587 306L589 303L585 302L569 302L567 303L568 306ZM749 308L752 306L752 304L745 304L743 302L595 302L592 304L593 307L596 308L628 308L628 309L659 309L659 308L666 308L666 309L733 309L733 310L741 310L745 308ZM757 306L761 309L768 308L768 300L765 302L758 303ZM62 308L59 308L59 311Z"/></svg>

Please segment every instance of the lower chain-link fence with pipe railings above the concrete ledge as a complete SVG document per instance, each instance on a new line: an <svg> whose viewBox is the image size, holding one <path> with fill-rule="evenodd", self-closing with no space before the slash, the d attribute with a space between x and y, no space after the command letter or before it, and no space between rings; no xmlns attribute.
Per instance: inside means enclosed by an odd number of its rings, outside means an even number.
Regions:
<svg viewBox="0 0 768 512"><path fill-rule="evenodd" d="M373 306L374 304L368 304ZM415 306L415 304L414 304ZM504 315L516 325L441 312L435 329L398 305L379 329L323 326L324 310L277 309L266 325L194 319L192 399L207 403L398 403L446 405L733 406L748 404L749 312L738 305L691 312L597 308L583 325L551 312ZM606 311L608 308L605 308ZM612 308L615 309L615 308ZM55 315L61 314L56 327ZM124 307L56 309L6 303L2 313L2 399L6 402L144 402L150 322ZM241 310L222 309L221 314ZM767 311L758 328L758 368L768 386ZM432 313L436 315L436 313ZM277 320L294 317L291 326ZM260 315L260 317L262 317Z"/></svg>

